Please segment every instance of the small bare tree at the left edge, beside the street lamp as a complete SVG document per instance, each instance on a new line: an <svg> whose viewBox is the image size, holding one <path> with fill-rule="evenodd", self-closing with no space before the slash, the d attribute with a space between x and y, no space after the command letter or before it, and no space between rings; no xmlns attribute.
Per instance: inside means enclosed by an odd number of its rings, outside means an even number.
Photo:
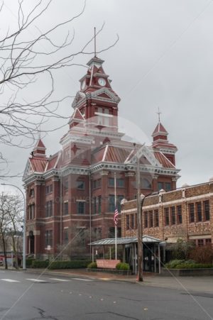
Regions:
<svg viewBox="0 0 213 320"><path fill-rule="evenodd" d="M18 244L23 222L23 203L16 195L1 192L0 194L0 238L4 251L5 269L8 268L7 252L12 248L18 267ZM19 240L19 238L18 238ZM10 248L9 248L10 246Z"/></svg>

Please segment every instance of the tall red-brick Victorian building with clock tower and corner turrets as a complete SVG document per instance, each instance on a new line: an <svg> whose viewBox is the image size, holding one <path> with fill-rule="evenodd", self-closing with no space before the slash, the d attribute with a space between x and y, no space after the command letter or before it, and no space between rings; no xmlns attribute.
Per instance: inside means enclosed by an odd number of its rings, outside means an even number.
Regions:
<svg viewBox="0 0 213 320"><path fill-rule="evenodd" d="M60 139L60 150L48 156L43 141L38 140L28 158L23 175L27 253L56 255L68 244L75 255L88 248L91 240L114 236L115 177L120 211L121 199L136 197L136 150L141 192L176 187L177 148L168 142L160 121L153 131L152 146L133 145L119 132L120 99L103 62L93 57L87 64L72 103L74 112L67 133ZM118 230L121 235L120 221Z"/></svg>

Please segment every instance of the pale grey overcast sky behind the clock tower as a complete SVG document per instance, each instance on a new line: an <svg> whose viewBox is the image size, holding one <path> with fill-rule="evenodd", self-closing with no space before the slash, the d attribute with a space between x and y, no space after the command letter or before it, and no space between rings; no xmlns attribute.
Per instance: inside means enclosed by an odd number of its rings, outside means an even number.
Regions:
<svg viewBox="0 0 213 320"><path fill-rule="evenodd" d="M81 0L54 0L39 27L70 18L83 4ZM13 1L6 1L6 6L5 21L16 23ZM73 50L92 37L94 26L99 29L103 23L97 50L114 43L119 35L114 48L98 56L105 60L104 70L121 98L121 131L134 136L128 132L128 119L131 131L132 126L137 128L138 140L151 144L159 107L168 138L178 147L178 187L209 181L213 176L213 1L87 0L84 13L70 27L70 31L75 28ZM90 45L88 51L92 50ZM76 62L86 65L90 57L82 55ZM60 72L57 93L75 96L85 70L73 67ZM72 114L71 101L60 108L65 116ZM60 137L67 132L67 120L60 124L64 127L43 138L48 155L60 149ZM54 121L49 124L54 125ZM31 149L1 145L1 150L11 161L10 174L23 172ZM21 178L7 182L22 185Z"/></svg>

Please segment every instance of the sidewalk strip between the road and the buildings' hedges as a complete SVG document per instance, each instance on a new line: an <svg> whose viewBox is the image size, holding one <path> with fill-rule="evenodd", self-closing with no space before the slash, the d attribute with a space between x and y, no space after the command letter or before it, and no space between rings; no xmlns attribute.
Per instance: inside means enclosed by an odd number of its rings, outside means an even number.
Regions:
<svg viewBox="0 0 213 320"><path fill-rule="evenodd" d="M85 269L45 270L28 269L40 275L64 275L66 277L87 277L94 280L122 281L137 283L143 286L181 289L189 292L207 292L213 294L213 276L207 277L163 277L153 273L144 273L143 282L138 282L136 275L114 275L107 272L87 272Z"/></svg>

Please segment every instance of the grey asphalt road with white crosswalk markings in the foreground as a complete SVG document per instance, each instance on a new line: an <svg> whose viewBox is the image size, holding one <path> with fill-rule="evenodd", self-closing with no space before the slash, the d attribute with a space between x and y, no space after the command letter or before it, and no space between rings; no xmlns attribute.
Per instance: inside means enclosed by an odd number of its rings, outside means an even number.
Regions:
<svg viewBox="0 0 213 320"><path fill-rule="evenodd" d="M209 320L213 294L0 271L0 320Z"/></svg>

